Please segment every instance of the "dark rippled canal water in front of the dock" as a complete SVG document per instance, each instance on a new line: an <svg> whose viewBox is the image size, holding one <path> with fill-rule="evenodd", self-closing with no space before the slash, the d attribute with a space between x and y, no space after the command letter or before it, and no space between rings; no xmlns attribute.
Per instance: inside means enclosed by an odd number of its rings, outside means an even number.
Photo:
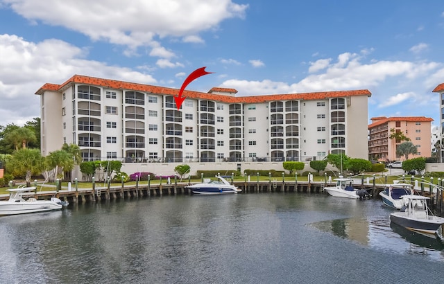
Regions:
<svg viewBox="0 0 444 284"><path fill-rule="evenodd" d="M0 218L0 283L443 283L380 199L176 195ZM422 238L421 238L422 237Z"/></svg>

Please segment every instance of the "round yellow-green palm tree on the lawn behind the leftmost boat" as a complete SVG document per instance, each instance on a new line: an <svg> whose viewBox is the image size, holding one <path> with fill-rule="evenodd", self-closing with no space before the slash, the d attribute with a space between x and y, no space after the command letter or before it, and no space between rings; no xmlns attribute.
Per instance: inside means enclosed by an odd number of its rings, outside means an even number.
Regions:
<svg viewBox="0 0 444 284"><path fill-rule="evenodd" d="M32 175L40 175L44 168L44 158L39 149L19 149L12 154L6 164L12 175L25 175L26 186L31 186Z"/></svg>

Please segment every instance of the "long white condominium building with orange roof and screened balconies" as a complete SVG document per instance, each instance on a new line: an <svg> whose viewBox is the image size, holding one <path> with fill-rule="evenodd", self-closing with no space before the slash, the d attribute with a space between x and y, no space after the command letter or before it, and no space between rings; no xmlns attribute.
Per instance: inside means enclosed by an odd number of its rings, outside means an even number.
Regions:
<svg viewBox="0 0 444 284"><path fill-rule="evenodd" d="M75 75L40 95L42 154L63 143L84 161L307 161L368 159L368 90L236 96Z"/></svg>

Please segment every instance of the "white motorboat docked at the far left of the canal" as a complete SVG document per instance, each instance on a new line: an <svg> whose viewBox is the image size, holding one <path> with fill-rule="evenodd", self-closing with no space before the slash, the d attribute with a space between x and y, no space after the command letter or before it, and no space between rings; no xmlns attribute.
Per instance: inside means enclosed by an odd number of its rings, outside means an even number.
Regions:
<svg viewBox="0 0 444 284"><path fill-rule="evenodd" d="M30 195L30 193L32 195L34 190L35 186L7 189L10 193L9 199L0 201L0 215L53 211L68 205L68 202L62 202L57 197L51 197L50 200L37 200L34 197L28 197L25 200L25 195Z"/></svg>

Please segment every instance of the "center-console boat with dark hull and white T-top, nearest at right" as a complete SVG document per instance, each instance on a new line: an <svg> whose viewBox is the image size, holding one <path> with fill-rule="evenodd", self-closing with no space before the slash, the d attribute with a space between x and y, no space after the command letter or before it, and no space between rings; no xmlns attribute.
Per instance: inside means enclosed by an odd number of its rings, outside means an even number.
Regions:
<svg viewBox="0 0 444 284"><path fill-rule="evenodd" d="M402 195L402 208L390 214L390 221L406 229L421 233L436 234L444 224L444 218L429 214L427 200L421 195Z"/></svg>

